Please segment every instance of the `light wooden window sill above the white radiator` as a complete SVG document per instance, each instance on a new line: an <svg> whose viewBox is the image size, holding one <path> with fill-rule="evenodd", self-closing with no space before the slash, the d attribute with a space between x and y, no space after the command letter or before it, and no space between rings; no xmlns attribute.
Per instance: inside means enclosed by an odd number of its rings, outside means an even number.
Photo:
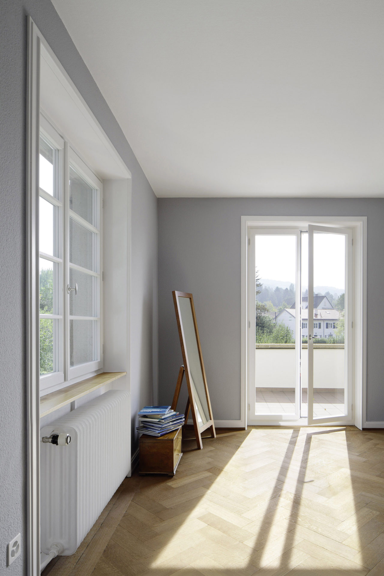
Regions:
<svg viewBox="0 0 384 576"><path fill-rule="evenodd" d="M113 382L113 380L117 380L117 378L125 376L126 374L126 372L101 372L101 374L96 374L96 376L81 380L80 382L76 382L76 384L71 384L66 388L42 396L40 398L40 418L51 414L54 410L58 410L58 408L62 408L89 392L97 390L97 388L101 388L101 386L105 386L105 384L109 384L109 382Z"/></svg>

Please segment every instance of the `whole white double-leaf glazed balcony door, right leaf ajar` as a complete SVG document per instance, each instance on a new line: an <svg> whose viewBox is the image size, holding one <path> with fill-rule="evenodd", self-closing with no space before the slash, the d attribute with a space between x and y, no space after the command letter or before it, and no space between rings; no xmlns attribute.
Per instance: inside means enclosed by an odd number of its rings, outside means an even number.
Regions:
<svg viewBox="0 0 384 576"><path fill-rule="evenodd" d="M352 422L352 230L248 229L248 423Z"/></svg>

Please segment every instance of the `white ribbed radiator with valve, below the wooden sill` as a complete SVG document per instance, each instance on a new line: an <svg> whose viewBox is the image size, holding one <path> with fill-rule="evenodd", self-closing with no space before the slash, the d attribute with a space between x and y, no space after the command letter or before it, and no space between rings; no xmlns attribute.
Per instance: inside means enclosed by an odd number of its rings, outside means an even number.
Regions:
<svg viewBox="0 0 384 576"><path fill-rule="evenodd" d="M67 446L40 444L41 551L73 554L130 469L130 395L111 390L45 426Z"/></svg>

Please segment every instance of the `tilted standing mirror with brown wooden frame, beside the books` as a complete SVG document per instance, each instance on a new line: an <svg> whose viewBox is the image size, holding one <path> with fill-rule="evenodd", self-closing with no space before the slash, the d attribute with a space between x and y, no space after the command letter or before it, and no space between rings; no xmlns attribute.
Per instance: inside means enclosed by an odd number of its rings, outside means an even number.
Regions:
<svg viewBox="0 0 384 576"><path fill-rule="evenodd" d="M183 354L185 377L188 385L189 405L192 412L193 428L195 429L197 448L203 448L201 432L210 428L212 438L216 437L210 395L208 393L206 370L204 369L203 355L199 330L197 329L195 306L192 294L173 291L174 311L176 312L178 335L180 338L181 353ZM175 398L180 392L183 370L180 369L175 392ZM177 400L176 400L177 401ZM188 405L185 411L185 422L188 419Z"/></svg>

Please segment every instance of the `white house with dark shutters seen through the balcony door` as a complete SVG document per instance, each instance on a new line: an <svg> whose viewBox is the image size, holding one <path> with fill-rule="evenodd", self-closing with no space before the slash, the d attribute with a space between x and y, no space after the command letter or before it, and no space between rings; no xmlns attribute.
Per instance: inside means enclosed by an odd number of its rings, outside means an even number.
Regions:
<svg viewBox="0 0 384 576"><path fill-rule="evenodd" d="M326 299L328 300L328 298ZM296 327L295 327L296 310L295 308L284 308L282 312L276 314L276 323L283 323L288 326L295 337ZM334 308L315 308L313 310L313 336L319 336L319 338L329 338L329 336L334 336L337 321L340 319L339 310ZM308 336L308 310L307 308L302 310L302 336L307 338Z"/></svg>

